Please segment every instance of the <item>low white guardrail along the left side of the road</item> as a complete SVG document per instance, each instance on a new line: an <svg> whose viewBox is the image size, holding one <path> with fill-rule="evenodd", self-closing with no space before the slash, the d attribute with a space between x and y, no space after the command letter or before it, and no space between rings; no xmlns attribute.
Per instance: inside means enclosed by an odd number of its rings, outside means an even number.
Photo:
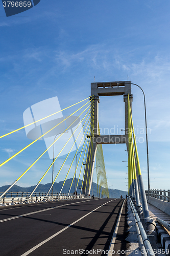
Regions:
<svg viewBox="0 0 170 256"><path fill-rule="evenodd" d="M2 195L3 192L0 192ZM81 199L81 198L91 198L90 196L77 195L62 193L59 196L59 193L34 193L29 197L30 192L9 192L6 193L3 198L0 199L0 206L15 205L15 204L25 204L25 203L38 203L45 201L55 201L55 200L70 200L70 199Z"/></svg>

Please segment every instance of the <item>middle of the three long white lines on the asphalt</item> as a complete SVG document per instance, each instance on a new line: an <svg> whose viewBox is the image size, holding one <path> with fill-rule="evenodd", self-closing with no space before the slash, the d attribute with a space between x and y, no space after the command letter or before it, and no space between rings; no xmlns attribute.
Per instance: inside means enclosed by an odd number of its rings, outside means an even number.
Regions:
<svg viewBox="0 0 170 256"><path fill-rule="evenodd" d="M111 200L114 201L114 200ZM105 204L110 203L106 202ZM27 256L28 254L30 254L31 252L33 252L34 250L36 250L38 247L40 247L41 245L45 244L46 242L50 241L51 239L55 238L56 236L58 236L58 234L60 234L61 232L63 232L64 230L66 230L67 228L71 227L72 225L76 224L77 222L81 221L82 219L84 219L86 216L88 216L89 214L91 214L93 211L99 209L100 207L104 206L105 204L102 204L101 206L99 206L98 208L95 208L94 210L88 212L88 214L84 215L83 217L81 217L80 219L78 219L75 222L72 222L70 225L68 225L67 227L61 229L60 231L58 231L57 233L53 234L53 236L51 236L50 238L47 238L46 240L42 241L41 243L37 244L36 246L34 246L32 249L30 249L29 251L26 251L25 253L23 253L21 256Z"/></svg>

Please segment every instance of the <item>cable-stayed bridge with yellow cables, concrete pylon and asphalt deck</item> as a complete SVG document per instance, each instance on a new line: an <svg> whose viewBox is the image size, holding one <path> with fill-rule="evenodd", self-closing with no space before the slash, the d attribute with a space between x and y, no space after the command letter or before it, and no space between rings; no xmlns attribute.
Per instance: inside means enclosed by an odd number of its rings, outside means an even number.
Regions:
<svg viewBox="0 0 170 256"><path fill-rule="evenodd" d="M125 134L101 135L100 97L117 95L122 95L125 102ZM150 211L147 200L159 209L162 204L163 211L168 214L170 192L164 190L163 194L162 191L158 194L149 187L148 194L145 194L131 112L132 98L131 81L94 82L91 83L91 95L88 98L63 110L59 109L57 102L56 111L54 105L57 97L39 102L23 114L23 127L0 136L4 139L25 129L27 137L32 139L30 144L4 160L0 164L1 168L30 146L36 146L38 140L43 138L46 144L46 150L0 195L0 225L3 230L1 255L128 255L137 254L138 247L143 255L158 254L157 219L152 218L154 210ZM73 107L77 109L63 116L65 110ZM126 144L128 151L128 195L126 199L112 199L109 198L102 144L122 143ZM13 196L13 186L28 175L47 153L52 162L36 181L34 189L27 194ZM54 163L60 156L64 156L64 160L62 163L60 161L56 174ZM68 161L70 156L73 157ZM38 186L50 170L51 187L46 193L39 193ZM54 183L61 173L65 175L64 182L59 193L53 193ZM94 175L98 197L92 193ZM70 176L70 187L67 193L63 193L65 182ZM32 179L35 180L34 177ZM80 179L82 184L78 187ZM71 187L74 187L74 193L70 193ZM161 214L160 211L158 215L159 223L161 216L169 222L169 217L163 212ZM130 223L134 227L126 242ZM161 225L168 230L168 224L166 226L162 222ZM128 242L136 242L137 247L132 249ZM168 255L169 244L162 239L165 248L161 248L161 253L164 250Z"/></svg>

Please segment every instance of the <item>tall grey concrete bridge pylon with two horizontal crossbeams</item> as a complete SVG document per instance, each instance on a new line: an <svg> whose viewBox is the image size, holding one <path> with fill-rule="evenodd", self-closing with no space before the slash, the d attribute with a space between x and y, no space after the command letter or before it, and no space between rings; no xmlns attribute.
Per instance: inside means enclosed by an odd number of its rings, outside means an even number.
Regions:
<svg viewBox="0 0 170 256"><path fill-rule="evenodd" d="M93 169L96 149L98 144L122 144L126 143L128 148L128 94L132 106L131 81L114 82L92 82L91 96L93 96L94 113L91 114L91 134L88 154L86 159L85 174L83 180L82 194L89 195L92 184ZM124 96L125 102L125 134L124 135L100 135L99 134L99 97L101 96Z"/></svg>

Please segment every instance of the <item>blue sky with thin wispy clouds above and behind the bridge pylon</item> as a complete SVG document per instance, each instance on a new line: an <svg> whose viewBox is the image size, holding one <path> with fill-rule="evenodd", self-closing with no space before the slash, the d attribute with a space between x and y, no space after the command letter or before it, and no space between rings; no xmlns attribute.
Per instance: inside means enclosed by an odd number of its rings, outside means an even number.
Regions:
<svg viewBox="0 0 170 256"><path fill-rule="evenodd" d="M128 80L129 76L146 97L151 189L169 189L169 8L167 0L41 0L26 12L6 17L1 4L1 135L23 126L23 112L39 101L57 96L63 109L89 97L94 76L96 82ZM132 93L147 188L143 95L135 86ZM101 97L99 109L103 131L124 127L123 97ZM1 139L1 162L30 142L24 130ZM44 141L39 141L2 166L0 186L16 180L45 149ZM125 149L125 145L103 146L111 188L127 188ZM58 159L56 169L62 160ZM50 163L47 158L40 160L18 185L36 184ZM47 182L51 182L50 172L42 183Z"/></svg>

